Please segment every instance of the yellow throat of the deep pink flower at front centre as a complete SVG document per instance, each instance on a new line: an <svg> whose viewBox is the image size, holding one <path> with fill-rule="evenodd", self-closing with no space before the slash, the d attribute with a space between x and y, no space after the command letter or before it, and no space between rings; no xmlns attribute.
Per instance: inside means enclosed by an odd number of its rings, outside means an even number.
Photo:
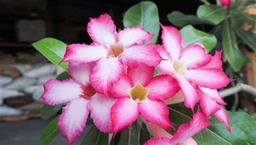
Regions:
<svg viewBox="0 0 256 145"><path fill-rule="evenodd" d="M130 90L130 97L135 102L143 102L147 99L148 91L140 84L134 85Z"/></svg>

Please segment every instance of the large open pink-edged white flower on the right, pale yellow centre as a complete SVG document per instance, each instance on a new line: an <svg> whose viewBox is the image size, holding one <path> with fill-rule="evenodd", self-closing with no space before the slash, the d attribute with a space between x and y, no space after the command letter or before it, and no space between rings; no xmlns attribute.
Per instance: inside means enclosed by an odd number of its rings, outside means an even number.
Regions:
<svg viewBox="0 0 256 145"><path fill-rule="evenodd" d="M157 66L162 73L176 78L184 94L184 104L194 108L199 101L196 85L209 89L219 89L230 83L230 79L217 68L203 68L212 59L205 48L199 44L190 45L181 50L181 35L177 28L161 25L161 38L164 48L158 47L158 52L164 59ZM210 65L210 64L209 64Z"/></svg>

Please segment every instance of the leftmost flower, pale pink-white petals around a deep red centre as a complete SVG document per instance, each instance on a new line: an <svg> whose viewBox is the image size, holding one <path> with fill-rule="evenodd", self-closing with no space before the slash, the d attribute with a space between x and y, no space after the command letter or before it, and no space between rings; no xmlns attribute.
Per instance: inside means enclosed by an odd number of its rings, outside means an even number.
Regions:
<svg viewBox="0 0 256 145"><path fill-rule="evenodd" d="M70 63L68 73L71 79L58 81L50 79L44 84L42 99L48 105L67 103L59 116L60 133L73 144L83 132L89 113L96 127L104 133L113 133L110 108L116 98L108 99L95 92L89 82L94 62Z"/></svg>

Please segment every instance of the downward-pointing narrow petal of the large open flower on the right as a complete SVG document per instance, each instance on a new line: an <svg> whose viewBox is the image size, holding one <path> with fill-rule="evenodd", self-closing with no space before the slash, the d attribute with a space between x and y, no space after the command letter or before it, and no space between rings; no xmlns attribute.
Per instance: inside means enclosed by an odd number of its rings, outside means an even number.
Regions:
<svg viewBox="0 0 256 145"><path fill-rule="evenodd" d="M194 106L199 101L199 95L194 88L183 76L175 74L177 82L179 83L180 89L184 94L184 104L186 107L194 110Z"/></svg>

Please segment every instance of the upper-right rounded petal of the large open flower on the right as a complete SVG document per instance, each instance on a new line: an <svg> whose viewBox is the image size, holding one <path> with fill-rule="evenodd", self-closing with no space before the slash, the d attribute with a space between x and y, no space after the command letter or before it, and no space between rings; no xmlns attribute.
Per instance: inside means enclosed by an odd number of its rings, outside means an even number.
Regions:
<svg viewBox="0 0 256 145"><path fill-rule="evenodd" d="M210 62L211 57L200 45L190 45L183 50L180 60L186 64L187 69L191 69L205 66Z"/></svg>

